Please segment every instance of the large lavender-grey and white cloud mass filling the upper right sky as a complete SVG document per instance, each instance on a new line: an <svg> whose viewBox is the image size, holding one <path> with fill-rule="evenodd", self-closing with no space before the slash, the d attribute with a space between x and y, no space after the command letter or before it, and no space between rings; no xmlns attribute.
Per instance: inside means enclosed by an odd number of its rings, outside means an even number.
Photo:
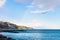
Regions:
<svg viewBox="0 0 60 40"><path fill-rule="evenodd" d="M33 0L31 5L28 6L28 8L30 8L31 13L43 14L54 11L58 5L60 5L60 0ZM35 11L33 11L32 9L35 8L35 6L37 7Z"/></svg>

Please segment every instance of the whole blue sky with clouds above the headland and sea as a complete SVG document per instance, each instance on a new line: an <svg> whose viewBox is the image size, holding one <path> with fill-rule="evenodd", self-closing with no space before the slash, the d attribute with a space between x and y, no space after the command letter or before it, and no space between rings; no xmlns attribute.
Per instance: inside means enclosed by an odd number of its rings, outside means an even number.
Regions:
<svg viewBox="0 0 60 40"><path fill-rule="evenodd" d="M35 29L60 29L60 0L0 0L0 21Z"/></svg>

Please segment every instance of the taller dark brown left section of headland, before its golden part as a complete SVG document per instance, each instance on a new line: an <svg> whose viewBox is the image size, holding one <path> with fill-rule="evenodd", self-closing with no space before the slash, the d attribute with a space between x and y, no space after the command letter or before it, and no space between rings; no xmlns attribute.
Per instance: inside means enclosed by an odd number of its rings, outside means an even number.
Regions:
<svg viewBox="0 0 60 40"><path fill-rule="evenodd" d="M17 29L17 25L9 22L0 22L0 29Z"/></svg>

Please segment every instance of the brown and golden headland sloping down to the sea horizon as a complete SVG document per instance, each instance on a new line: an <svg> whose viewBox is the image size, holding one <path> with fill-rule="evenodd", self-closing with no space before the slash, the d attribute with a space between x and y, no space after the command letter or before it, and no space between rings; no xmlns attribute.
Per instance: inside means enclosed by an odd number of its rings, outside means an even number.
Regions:
<svg viewBox="0 0 60 40"><path fill-rule="evenodd" d="M0 21L0 29L19 29L19 30L25 30L25 29L32 29L26 26L18 26L9 22L2 22Z"/></svg>

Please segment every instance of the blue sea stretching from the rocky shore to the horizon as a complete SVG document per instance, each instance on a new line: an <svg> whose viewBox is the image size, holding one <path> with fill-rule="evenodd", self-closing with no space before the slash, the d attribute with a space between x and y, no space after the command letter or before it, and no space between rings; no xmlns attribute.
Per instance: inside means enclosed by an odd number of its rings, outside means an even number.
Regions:
<svg viewBox="0 0 60 40"><path fill-rule="evenodd" d="M60 30L24 30L19 33L0 32L0 34L15 40L60 40Z"/></svg>

